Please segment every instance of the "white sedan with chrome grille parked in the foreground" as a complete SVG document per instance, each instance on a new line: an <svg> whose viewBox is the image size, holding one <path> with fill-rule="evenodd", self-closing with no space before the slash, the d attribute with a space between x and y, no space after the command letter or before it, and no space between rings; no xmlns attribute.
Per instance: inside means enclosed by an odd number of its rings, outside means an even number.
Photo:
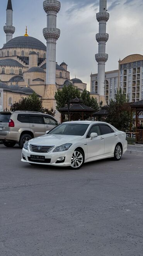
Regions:
<svg viewBox="0 0 143 256"><path fill-rule="evenodd" d="M111 124L73 121L59 124L46 135L26 142L21 161L79 169L83 163L103 158L118 161L126 150L126 133Z"/></svg>

